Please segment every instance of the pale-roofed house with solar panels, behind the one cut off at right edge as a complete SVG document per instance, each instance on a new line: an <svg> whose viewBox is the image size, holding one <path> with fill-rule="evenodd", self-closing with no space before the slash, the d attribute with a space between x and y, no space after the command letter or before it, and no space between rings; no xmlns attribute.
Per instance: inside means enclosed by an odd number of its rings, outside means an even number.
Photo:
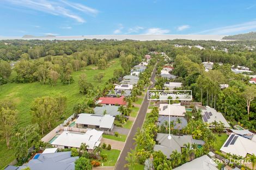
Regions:
<svg viewBox="0 0 256 170"><path fill-rule="evenodd" d="M215 128L212 125L212 122L222 122L225 128L230 128L227 120L224 118L221 112L217 112L214 108L210 108L209 106L196 106L197 109L202 110L202 118L205 123L209 123L210 128Z"/></svg>

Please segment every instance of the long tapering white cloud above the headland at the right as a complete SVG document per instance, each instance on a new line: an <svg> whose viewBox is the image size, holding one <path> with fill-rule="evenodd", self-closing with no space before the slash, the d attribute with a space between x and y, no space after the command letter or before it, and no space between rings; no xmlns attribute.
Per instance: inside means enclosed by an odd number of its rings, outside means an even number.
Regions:
<svg viewBox="0 0 256 170"><path fill-rule="evenodd" d="M248 32L256 29L256 21L235 24L232 26L219 27L214 29L204 30L194 34L216 34L216 35L229 35L233 33Z"/></svg>

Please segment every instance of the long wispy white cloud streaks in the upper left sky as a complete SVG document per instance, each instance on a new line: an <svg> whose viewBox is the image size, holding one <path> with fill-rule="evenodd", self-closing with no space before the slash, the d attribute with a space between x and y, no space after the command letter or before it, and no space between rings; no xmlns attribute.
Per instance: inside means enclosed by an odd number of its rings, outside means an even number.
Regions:
<svg viewBox="0 0 256 170"><path fill-rule="evenodd" d="M85 5L79 3L70 3L68 1L58 1L53 2L50 0L3 0L7 3L11 3L20 7L29 8L36 11L45 12L47 14L52 14L56 16L69 17L77 22L86 22L81 16L74 13L67 7L71 7L72 9L76 9L78 11L83 11L88 14L97 14L97 10L93 8L89 8Z"/></svg>

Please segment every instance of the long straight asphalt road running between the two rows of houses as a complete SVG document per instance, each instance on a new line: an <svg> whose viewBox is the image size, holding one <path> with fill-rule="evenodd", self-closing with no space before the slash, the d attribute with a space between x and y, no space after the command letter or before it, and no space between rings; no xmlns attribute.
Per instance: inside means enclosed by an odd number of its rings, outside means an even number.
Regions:
<svg viewBox="0 0 256 170"><path fill-rule="evenodd" d="M155 75L156 75L156 67L154 68L153 74L151 75L151 78L150 78L150 81L152 81L153 84L151 84L148 87L148 89L151 89L154 87L155 81L156 81ZM149 107L149 103L150 103L150 100L148 100L148 94L146 93L143 103L142 103L142 106L141 106L141 109L139 110L137 118L131 128L130 134L129 134L129 136L127 136L124 149L122 150L122 152L119 156L119 159L115 165L115 168L114 168L115 170L123 170L123 169L127 170L128 169L127 167L124 167L125 164L127 163L125 160L125 157L126 157L127 153L130 152L131 149L135 148L135 145L133 144L133 143L135 143L135 140L133 140L133 137L135 136L137 128L141 128L143 125L143 122L144 122L144 119L145 119L145 116L147 114L147 110Z"/></svg>

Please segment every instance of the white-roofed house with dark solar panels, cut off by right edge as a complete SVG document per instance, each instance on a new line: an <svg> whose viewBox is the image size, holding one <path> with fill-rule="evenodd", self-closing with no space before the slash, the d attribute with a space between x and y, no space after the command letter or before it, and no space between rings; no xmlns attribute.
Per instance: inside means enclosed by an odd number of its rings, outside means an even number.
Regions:
<svg viewBox="0 0 256 170"><path fill-rule="evenodd" d="M248 140L245 137L231 133L223 146L221 147L222 153L230 153L245 158L247 154L256 155L256 142Z"/></svg>

